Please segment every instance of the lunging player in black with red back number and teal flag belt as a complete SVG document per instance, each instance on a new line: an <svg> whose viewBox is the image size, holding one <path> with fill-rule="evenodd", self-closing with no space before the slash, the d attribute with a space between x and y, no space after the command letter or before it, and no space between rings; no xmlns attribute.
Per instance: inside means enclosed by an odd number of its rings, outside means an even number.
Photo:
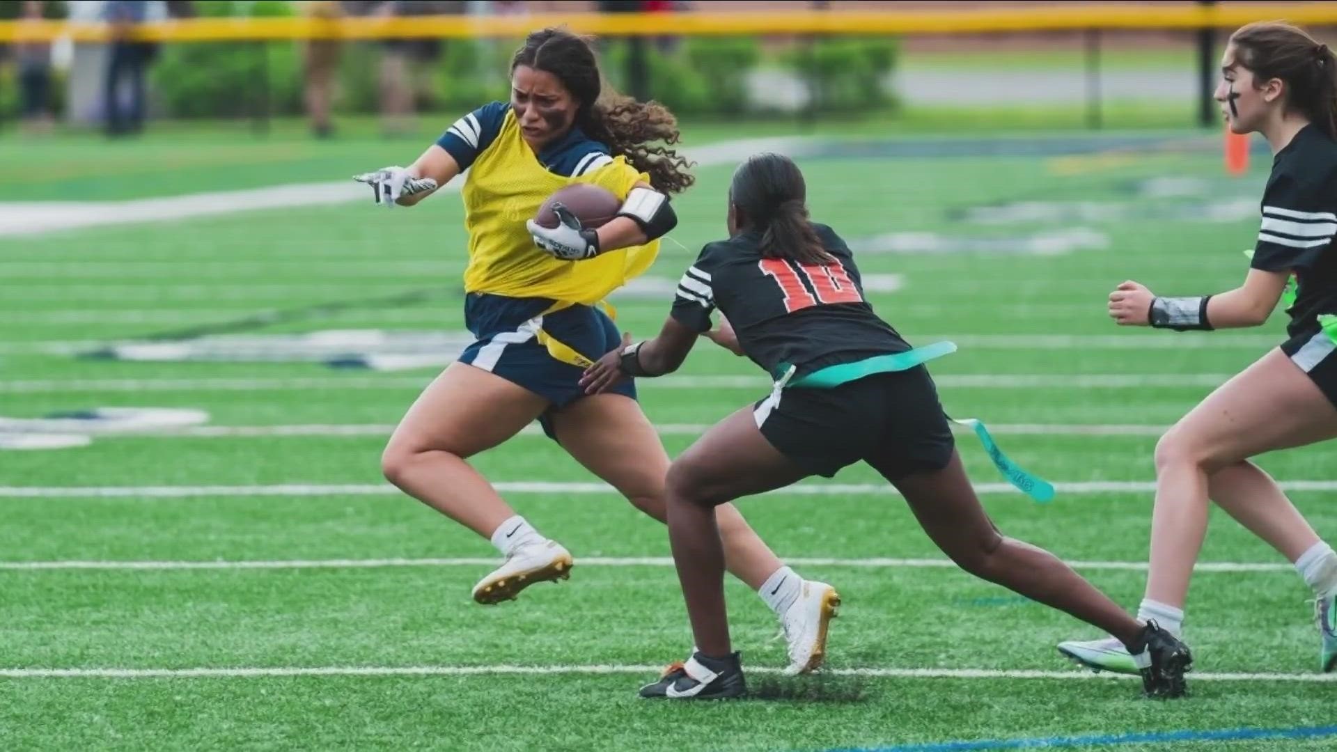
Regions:
<svg viewBox="0 0 1337 752"><path fill-rule="evenodd" d="M866 462L909 502L935 543L967 571L1118 634L1151 694L1183 692L1185 645L1142 625L1054 555L1004 538L971 487L923 360L873 313L849 248L812 223L804 177L785 157L743 163L729 194L730 238L707 245L679 282L658 337L606 355L586 373L598 392L626 376L675 371L718 309L711 339L771 373L769 397L707 431L668 470L668 534L697 650L644 697L745 692L725 616L715 506L832 476Z"/></svg>

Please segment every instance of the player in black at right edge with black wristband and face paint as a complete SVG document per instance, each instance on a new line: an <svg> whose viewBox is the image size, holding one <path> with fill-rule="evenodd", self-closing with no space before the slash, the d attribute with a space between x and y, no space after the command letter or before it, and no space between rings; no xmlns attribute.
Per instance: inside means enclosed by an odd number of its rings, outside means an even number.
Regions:
<svg viewBox="0 0 1337 752"><path fill-rule="evenodd" d="M1181 331L1257 326L1284 298L1289 339L1217 388L1157 446L1151 570L1139 616L1181 633L1210 498L1292 561L1313 589L1320 668L1330 672L1337 554L1249 458L1337 438L1337 58L1293 25L1259 23L1231 35L1222 74L1217 100L1230 130L1261 132L1274 154L1249 274L1242 286L1203 297L1157 297L1124 282L1110 296L1110 316ZM1131 670L1110 641L1064 642L1059 650L1091 668Z"/></svg>

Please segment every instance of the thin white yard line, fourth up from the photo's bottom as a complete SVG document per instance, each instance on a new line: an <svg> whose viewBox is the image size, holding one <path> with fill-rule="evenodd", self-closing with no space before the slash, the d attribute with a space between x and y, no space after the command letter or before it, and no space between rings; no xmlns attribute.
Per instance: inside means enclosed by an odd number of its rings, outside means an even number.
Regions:
<svg viewBox="0 0 1337 752"><path fill-rule="evenodd" d="M0 419L3 420L3 419ZM36 424L35 424L36 426ZM699 436L711 423L663 423L655 431L664 436ZM999 423L988 424L991 434L1019 436L1159 436L1167 426L1136 424L1039 424L1039 423ZM5 431L23 431L21 424L5 426ZM152 428L112 434L107 438L142 439L254 439L254 438L386 438L394 426L385 423L313 423L306 426L190 426L186 428ZM521 436L544 436L537 426L527 426Z"/></svg>

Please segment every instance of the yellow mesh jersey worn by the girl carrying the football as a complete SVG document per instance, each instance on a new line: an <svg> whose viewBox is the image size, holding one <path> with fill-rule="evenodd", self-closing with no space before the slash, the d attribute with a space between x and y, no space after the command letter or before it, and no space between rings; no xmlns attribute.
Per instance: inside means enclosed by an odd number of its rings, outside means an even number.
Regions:
<svg viewBox="0 0 1337 752"><path fill-rule="evenodd" d="M508 297L554 298L554 309L595 305L654 262L659 241L602 253L584 261L562 261L533 245L525 219L555 191L572 183L594 183L626 199L650 175L624 157L584 175L550 173L520 135L515 112L479 155L464 181L464 226L469 231L469 265L464 289Z"/></svg>

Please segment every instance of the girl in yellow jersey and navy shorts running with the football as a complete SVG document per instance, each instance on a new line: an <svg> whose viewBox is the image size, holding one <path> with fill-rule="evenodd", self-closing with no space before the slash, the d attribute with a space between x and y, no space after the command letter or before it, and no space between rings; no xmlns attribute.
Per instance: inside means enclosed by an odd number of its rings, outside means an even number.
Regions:
<svg viewBox="0 0 1337 752"><path fill-rule="evenodd" d="M463 187L469 265L465 324L477 340L417 399L390 438L385 476L412 496L489 538L505 562L473 589L496 603L533 582L564 579L571 554L517 515L468 458L527 424L544 431L632 504L664 521L668 456L632 383L587 396L584 368L618 347L598 308L644 272L675 218L667 194L693 183L673 115L602 91L588 43L563 29L528 36L511 64L511 102L460 118L412 166L360 175L388 206L413 206L468 169ZM600 94L603 95L600 98ZM528 222L555 191L599 185L624 201L598 230L568 218ZM792 672L825 653L838 602L766 547L731 506L719 507L729 569L775 612Z"/></svg>

